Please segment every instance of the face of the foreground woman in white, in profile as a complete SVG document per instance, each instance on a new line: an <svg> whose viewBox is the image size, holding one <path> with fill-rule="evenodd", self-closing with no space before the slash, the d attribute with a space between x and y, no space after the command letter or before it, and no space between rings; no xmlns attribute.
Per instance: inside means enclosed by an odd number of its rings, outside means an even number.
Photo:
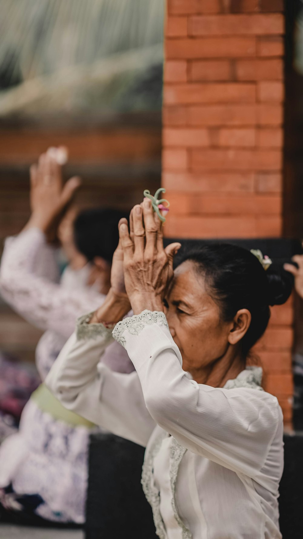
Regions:
<svg viewBox="0 0 303 539"><path fill-rule="evenodd" d="M193 376L224 356L232 322L224 322L217 303L205 288L203 275L187 260L177 267L166 299L165 313L183 370Z"/></svg>

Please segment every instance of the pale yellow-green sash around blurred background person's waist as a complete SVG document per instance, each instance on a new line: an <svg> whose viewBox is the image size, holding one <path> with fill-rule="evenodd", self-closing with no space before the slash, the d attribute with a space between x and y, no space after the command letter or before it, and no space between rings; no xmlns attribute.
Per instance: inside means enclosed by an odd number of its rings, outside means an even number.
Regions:
<svg viewBox="0 0 303 539"><path fill-rule="evenodd" d="M94 423L91 423L91 421L87 421L84 417L78 416L77 413L66 410L60 403L60 400L53 396L45 384L39 385L38 389L32 393L31 399L35 400L35 403L40 410L49 413L54 419L68 423L68 425L71 425L72 427L82 426L87 427L87 429L95 427Z"/></svg>

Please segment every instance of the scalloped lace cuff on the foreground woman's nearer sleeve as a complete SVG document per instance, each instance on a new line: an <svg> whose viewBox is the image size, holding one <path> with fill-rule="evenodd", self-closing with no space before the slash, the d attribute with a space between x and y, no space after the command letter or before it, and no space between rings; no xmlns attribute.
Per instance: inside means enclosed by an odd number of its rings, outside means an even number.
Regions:
<svg viewBox="0 0 303 539"><path fill-rule="evenodd" d="M156 323L168 329L168 323L164 313L157 310L153 312L151 310L143 310L141 314L134 314L118 322L114 327L113 337L125 348L126 338L123 336L123 333L126 330L130 335L139 335L144 327Z"/></svg>

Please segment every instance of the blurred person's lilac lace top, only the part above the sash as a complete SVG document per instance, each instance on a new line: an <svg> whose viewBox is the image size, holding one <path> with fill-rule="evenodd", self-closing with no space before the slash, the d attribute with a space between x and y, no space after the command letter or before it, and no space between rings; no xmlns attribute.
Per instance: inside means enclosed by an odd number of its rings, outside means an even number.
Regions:
<svg viewBox="0 0 303 539"><path fill-rule="evenodd" d="M79 272L75 272L79 273ZM71 336L77 317L100 307L105 296L79 282L71 289L60 282L56 250L44 233L31 228L5 240L0 266L0 293L25 320L45 331L36 349L36 365L44 380L59 351ZM111 369L129 372L133 365L114 345L104 361Z"/></svg>

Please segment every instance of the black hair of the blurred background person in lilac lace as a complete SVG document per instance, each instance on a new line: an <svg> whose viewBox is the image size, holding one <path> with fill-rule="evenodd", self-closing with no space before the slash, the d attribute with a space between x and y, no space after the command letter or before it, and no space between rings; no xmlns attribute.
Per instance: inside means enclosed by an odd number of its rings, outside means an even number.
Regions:
<svg viewBox="0 0 303 539"><path fill-rule="evenodd" d="M118 223L128 213L112 208L81 211L74 222L74 241L80 253L92 261L101 257L112 263L119 243Z"/></svg>

